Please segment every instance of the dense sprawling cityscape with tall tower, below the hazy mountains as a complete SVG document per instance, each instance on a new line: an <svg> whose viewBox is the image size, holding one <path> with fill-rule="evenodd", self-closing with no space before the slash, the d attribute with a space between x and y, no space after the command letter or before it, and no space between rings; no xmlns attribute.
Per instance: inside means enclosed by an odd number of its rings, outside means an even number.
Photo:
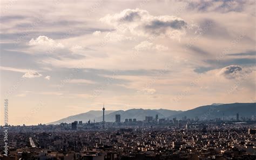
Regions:
<svg viewBox="0 0 256 160"><path fill-rule="evenodd" d="M255 159L255 118L178 120L116 114L115 122L8 126L1 159ZM3 127L6 126L2 126ZM4 139L2 137L1 139ZM4 141L0 142L4 146Z"/></svg>

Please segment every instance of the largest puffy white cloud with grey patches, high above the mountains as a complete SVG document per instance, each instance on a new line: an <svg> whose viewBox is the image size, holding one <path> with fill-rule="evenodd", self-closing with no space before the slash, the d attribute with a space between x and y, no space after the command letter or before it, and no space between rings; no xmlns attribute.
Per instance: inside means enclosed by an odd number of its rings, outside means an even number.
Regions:
<svg viewBox="0 0 256 160"><path fill-rule="evenodd" d="M107 14L100 18L103 23L113 26L118 32L130 32L139 36L167 36L180 39L185 34L186 22L175 16L152 16L146 10L125 9L120 13Z"/></svg>

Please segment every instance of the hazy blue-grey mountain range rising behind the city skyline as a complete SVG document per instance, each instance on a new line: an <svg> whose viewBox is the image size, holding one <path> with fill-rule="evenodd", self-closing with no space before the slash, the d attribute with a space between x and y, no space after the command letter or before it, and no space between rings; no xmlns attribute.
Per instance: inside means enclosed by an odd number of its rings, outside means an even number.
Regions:
<svg viewBox="0 0 256 160"><path fill-rule="evenodd" d="M195 118L199 119L214 119L214 118L222 118L222 117L235 117L235 115L239 113L240 117L252 117L256 115L256 103L233 103L233 104L212 104L206 106L200 106L197 108L193 108L192 110L187 111L173 111L166 109L158 109L158 110L149 110L149 109L131 109L131 110L119 110L119 111L105 111L105 121L114 122L116 119L116 114L121 115L121 121L125 119L134 119L137 120L145 120L146 116L155 117L158 114L158 118L177 118L182 119L183 117L187 118ZM77 115L72 115L70 117L66 117L60 119L55 122L48 123L48 125L59 124L62 122L70 123L73 121L83 121L87 122L89 120L95 122L102 121L102 111L89 111L86 113L81 113Z"/></svg>

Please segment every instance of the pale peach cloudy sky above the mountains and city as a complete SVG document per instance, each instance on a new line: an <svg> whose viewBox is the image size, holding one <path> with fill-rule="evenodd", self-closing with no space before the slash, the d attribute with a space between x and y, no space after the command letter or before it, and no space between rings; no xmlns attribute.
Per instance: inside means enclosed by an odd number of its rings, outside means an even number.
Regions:
<svg viewBox="0 0 256 160"><path fill-rule="evenodd" d="M255 1L3 0L1 117L252 103L255 20Z"/></svg>

